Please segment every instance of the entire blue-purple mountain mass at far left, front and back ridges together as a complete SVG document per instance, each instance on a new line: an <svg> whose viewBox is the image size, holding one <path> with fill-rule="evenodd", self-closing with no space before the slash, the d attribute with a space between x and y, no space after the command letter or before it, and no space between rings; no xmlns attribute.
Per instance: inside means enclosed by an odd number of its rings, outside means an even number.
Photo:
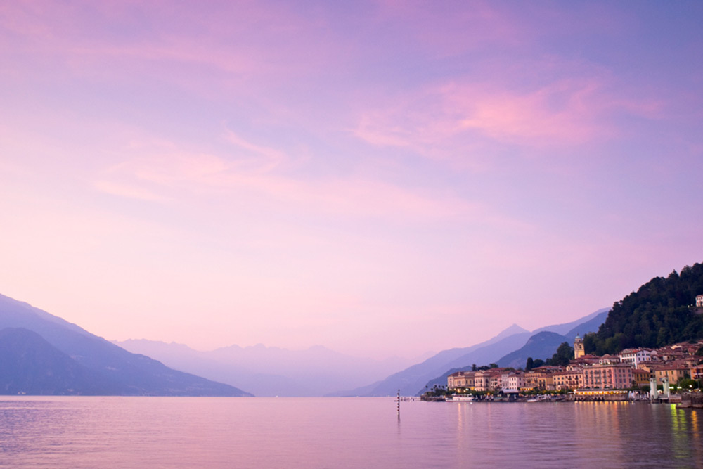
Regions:
<svg viewBox="0 0 703 469"><path fill-rule="evenodd" d="M0 295L0 393L244 396Z"/></svg>

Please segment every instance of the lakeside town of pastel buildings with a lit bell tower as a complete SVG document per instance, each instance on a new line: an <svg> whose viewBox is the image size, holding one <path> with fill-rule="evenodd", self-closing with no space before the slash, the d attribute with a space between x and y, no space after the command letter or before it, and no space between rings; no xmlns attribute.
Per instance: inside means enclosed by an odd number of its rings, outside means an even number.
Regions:
<svg viewBox="0 0 703 469"><path fill-rule="evenodd" d="M576 337L567 366L458 371L447 378L444 400L637 400L697 407L703 397L697 389L703 379L702 347L703 342L680 343L595 356L586 354L583 339Z"/></svg>

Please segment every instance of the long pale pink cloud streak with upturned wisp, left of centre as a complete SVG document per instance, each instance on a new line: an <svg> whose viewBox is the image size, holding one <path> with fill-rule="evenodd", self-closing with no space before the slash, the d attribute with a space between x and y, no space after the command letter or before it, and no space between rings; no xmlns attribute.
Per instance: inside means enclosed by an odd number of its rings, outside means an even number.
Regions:
<svg viewBox="0 0 703 469"><path fill-rule="evenodd" d="M190 195L229 193L252 205L288 207L297 212L342 217L445 219L466 216L479 223L510 224L481 203L451 193L391 184L373 176L300 178L287 174L285 153L228 132L239 150L234 155L186 153L165 145L148 151L136 146L132 157L98 176L98 191L127 198L167 203ZM288 210L288 209L287 209Z"/></svg>

